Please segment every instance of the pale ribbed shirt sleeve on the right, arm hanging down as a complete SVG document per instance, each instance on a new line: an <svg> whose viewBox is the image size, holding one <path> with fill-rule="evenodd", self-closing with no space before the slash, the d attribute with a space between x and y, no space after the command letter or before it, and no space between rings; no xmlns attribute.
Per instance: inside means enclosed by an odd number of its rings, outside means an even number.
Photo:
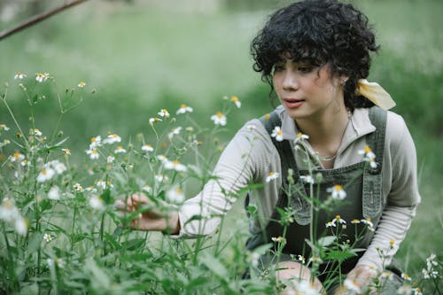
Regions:
<svg viewBox="0 0 443 295"><path fill-rule="evenodd" d="M384 163L391 165L391 186L372 242L358 262L378 269L391 263L420 203L414 141L405 121L397 114L388 114Z"/></svg>

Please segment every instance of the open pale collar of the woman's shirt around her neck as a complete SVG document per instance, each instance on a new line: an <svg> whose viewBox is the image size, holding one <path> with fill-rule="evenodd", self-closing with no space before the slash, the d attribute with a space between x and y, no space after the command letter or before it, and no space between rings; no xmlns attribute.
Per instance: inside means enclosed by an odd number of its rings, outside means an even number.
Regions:
<svg viewBox="0 0 443 295"><path fill-rule="evenodd" d="M283 138L291 141L295 140L297 138L297 133L299 133L295 121L286 113L283 105L277 106L276 113L279 115L280 120L282 120ZM369 109L355 109L347 124L338 152L344 151L349 144L352 144L361 136L366 136L375 130L376 127L372 125L369 119Z"/></svg>

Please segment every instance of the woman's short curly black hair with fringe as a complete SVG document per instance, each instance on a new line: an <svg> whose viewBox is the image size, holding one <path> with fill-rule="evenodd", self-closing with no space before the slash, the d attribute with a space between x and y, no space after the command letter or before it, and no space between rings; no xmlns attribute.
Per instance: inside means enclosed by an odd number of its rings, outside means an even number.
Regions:
<svg viewBox="0 0 443 295"><path fill-rule="evenodd" d="M372 102L354 94L356 83L369 75L370 51L379 46L368 18L352 4L337 0L305 0L274 12L253 38L253 69L268 82L272 94L272 71L290 56L313 65L330 64L332 74L346 75L345 105L348 109L369 107Z"/></svg>

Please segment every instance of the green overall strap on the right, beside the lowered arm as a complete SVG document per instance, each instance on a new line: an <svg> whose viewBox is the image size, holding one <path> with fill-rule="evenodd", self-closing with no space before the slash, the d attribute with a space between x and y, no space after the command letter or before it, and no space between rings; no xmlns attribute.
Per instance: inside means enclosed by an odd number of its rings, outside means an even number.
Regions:
<svg viewBox="0 0 443 295"><path fill-rule="evenodd" d="M363 216L376 218L383 208L382 167L385 153L387 112L378 106L369 108L369 120L376 130L366 137L366 144L376 154L377 167L367 167L363 173Z"/></svg>

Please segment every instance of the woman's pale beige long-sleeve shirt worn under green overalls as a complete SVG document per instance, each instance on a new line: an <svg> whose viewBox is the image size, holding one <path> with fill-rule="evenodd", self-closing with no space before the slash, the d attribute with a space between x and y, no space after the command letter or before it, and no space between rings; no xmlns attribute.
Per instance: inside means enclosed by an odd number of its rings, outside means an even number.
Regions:
<svg viewBox="0 0 443 295"><path fill-rule="evenodd" d="M286 114L283 106L277 107L276 112L282 120L284 139L292 142L298 133L295 122ZM369 110L355 109L338 148L333 168L361 162L362 156L358 151L363 150L366 145L365 136L375 129L369 120ZM307 151L315 155L308 141L304 144ZM296 159L301 156L299 151L293 152ZM377 268L382 268L383 264L377 248L389 252L385 264L390 263L396 252L396 249L388 251L390 241L395 242L395 248L400 245L420 202L416 181L416 148L404 120L392 112L387 115L383 157L382 193L385 206L372 242L358 262L359 265ZM303 167L304 161L298 160L297 163L299 169L307 168ZM252 192L250 205L256 206L258 212L250 220L250 230L256 233L265 229L276 208L282 184L280 177L266 182L269 172L282 175L278 151L260 120L250 120L240 128L222 152L214 168L214 175L218 179L207 182L196 197L183 204L179 212L179 237L212 233L221 221L220 215L227 213L235 202L235 198L229 196L229 193L257 182L264 186ZM202 218L192 219L196 215Z"/></svg>

